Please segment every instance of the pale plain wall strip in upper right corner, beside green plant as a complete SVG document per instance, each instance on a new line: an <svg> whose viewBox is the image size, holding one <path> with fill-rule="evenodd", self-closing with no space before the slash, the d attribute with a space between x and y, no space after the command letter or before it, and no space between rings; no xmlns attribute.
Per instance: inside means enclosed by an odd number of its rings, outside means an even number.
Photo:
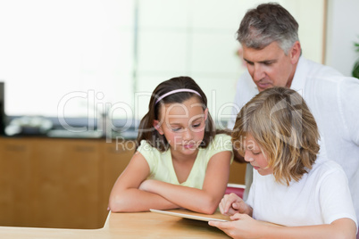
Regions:
<svg viewBox="0 0 359 239"><path fill-rule="evenodd" d="M359 1L328 0L327 49L325 64L346 76L352 75L359 54Z"/></svg>

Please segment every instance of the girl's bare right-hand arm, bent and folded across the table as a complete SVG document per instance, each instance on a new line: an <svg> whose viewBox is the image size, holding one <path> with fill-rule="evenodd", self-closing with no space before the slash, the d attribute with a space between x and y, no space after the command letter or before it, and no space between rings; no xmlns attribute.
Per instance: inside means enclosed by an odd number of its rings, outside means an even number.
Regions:
<svg viewBox="0 0 359 239"><path fill-rule="evenodd" d="M202 190L169 183L147 180L144 190L159 194L172 203L188 210L213 214L226 190L230 177L230 151L213 155L207 165Z"/></svg>

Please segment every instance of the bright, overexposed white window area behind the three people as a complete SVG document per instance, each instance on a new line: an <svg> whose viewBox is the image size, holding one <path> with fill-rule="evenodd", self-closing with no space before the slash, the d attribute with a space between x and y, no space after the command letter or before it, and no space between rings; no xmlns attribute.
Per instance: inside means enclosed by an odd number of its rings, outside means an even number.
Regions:
<svg viewBox="0 0 359 239"><path fill-rule="evenodd" d="M141 119L156 85L187 75L204 89L213 117L226 121L245 70L235 33L262 2L1 0L5 112ZM324 62L327 2L278 2L299 22L305 57Z"/></svg>

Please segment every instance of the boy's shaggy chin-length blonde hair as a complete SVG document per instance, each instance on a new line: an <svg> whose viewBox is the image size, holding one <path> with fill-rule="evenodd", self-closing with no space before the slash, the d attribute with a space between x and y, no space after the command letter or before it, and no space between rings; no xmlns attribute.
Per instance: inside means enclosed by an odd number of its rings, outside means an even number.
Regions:
<svg viewBox="0 0 359 239"><path fill-rule="evenodd" d="M238 113L232 143L242 156L247 134L266 155L276 181L285 185L312 169L320 149L311 111L302 96L285 87L264 90Z"/></svg>

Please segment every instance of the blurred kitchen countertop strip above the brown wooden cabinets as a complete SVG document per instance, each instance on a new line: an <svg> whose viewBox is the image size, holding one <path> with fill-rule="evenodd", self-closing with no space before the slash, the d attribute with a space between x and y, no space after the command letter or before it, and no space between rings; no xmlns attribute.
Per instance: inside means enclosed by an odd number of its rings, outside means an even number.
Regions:
<svg viewBox="0 0 359 239"><path fill-rule="evenodd" d="M136 119L88 119L55 117L8 117L5 136L50 137L50 138L123 138L136 139L138 120Z"/></svg>

